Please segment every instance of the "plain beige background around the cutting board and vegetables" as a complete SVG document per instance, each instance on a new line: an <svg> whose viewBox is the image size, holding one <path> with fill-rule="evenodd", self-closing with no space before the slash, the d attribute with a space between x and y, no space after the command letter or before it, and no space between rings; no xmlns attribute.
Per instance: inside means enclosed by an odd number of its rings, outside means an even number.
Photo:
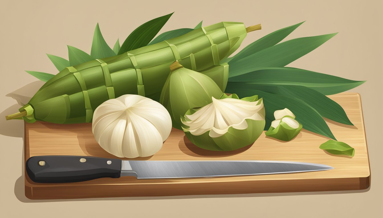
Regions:
<svg viewBox="0 0 383 218"><path fill-rule="evenodd" d="M383 212L381 84L383 1L2 1L0 6L0 216L2 217L379 217ZM354 80L362 95L372 173L364 191L196 195L117 199L26 199L23 192L23 123L5 121L18 105L8 93L36 79L24 70L56 73L45 53L67 58L65 45L90 52L95 24L106 42L123 41L138 25L173 12L163 31L220 21L262 23L244 45L306 20L286 39L339 32L289 66ZM36 83L34 83L36 84ZM31 86L31 85L29 85ZM32 84L33 86L33 84ZM33 94L33 93L32 93ZM336 135L336 133L334 133Z"/></svg>

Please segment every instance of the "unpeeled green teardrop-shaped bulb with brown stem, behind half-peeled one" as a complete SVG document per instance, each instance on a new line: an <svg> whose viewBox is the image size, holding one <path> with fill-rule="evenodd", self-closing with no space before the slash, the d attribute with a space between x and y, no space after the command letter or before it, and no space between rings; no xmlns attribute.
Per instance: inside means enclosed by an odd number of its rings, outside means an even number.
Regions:
<svg viewBox="0 0 383 218"><path fill-rule="evenodd" d="M174 128L181 128L180 117L190 108L203 107L219 99L222 90L210 77L184 68L175 61L160 96L160 103L169 111Z"/></svg>

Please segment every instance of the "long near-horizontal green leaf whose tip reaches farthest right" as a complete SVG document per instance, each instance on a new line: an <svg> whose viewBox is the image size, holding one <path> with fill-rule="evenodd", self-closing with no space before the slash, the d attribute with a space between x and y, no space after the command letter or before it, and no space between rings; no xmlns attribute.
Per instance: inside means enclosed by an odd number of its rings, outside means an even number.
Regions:
<svg viewBox="0 0 383 218"><path fill-rule="evenodd" d="M344 92L360 86L365 82L290 67L260 68L250 73L229 78L229 81L252 84L305 86L324 95Z"/></svg>

